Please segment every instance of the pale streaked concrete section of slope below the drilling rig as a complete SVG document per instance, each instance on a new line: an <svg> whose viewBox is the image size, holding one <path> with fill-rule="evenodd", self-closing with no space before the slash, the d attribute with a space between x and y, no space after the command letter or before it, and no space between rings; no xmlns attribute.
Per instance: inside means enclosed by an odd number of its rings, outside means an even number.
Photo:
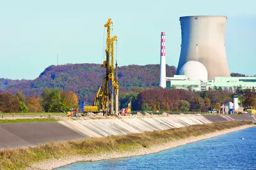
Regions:
<svg viewBox="0 0 256 170"><path fill-rule="evenodd" d="M72 127L72 129L80 132L86 137L105 137L109 135L130 134L145 131L159 131L196 124L210 124L211 121L202 116L177 116L76 121L68 120L60 123L67 127Z"/></svg>

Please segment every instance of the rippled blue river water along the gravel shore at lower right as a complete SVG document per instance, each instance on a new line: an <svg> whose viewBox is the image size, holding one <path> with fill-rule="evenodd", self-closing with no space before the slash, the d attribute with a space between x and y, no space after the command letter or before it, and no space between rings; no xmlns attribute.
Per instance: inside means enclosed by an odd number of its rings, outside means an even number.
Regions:
<svg viewBox="0 0 256 170"><path fill-rule="evenodd" d="M151 155L58 168L68 169L256 169L256 127Z"/></svg>

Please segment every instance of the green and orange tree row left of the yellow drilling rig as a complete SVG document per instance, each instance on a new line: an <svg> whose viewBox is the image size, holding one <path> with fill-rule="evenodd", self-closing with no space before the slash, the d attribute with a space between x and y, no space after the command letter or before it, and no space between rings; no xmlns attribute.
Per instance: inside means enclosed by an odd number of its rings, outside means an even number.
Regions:
<svg viewBox="0 0 256 170"><path fill-rule="evenodd" d="M0 113L40 113L68 111L77 108L78 98L74 92L61 92L60 89L45 89L41 96L24 97L22 92L13 95L0 94Z"/></svg>

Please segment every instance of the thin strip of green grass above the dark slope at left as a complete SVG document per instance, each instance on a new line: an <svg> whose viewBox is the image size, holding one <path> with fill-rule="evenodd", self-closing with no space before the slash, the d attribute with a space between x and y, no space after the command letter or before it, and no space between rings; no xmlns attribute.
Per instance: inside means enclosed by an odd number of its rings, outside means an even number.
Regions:
<svg viewBox="0 0 256 170"><path fill-rule="evenodd" d="M0 124L13 124L13 123L25 123L25 122L54 122L59 121L56 118L20 118L20 119L3 119L0 120Z"/></svg>

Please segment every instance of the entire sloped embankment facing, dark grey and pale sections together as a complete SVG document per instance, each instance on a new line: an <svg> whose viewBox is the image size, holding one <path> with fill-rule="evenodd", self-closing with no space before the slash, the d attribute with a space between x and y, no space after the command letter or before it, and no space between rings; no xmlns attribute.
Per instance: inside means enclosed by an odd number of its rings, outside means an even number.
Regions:
<svg viewBox="0 0 256 170"><path fill-rule="evenodd" d="M210 124L232 120L255 121L251 116L180 116L122 118L98 120L66 120L60 122L35 122L0 124L0 150L35 146L47 142L70 141L88 137L105 137L145 131Z"/></svg>

